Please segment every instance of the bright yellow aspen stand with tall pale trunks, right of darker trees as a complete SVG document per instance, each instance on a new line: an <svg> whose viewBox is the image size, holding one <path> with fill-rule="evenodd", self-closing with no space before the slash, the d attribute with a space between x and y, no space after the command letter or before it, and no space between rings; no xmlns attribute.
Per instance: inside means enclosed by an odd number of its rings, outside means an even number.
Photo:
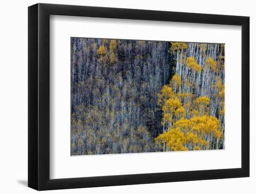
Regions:
<svg viewBox="0 0 256 194"><path fill-rule="evenodd" d="M216 55L206 54L209 45L182 47L172 43L170 52L177 54L176 73L170 79L172 95L162 107L165 130L155 138L163 151L207 150L224 147L224 84L223 45L218 61ZM191 46L191 47L190 47ZM211 45L214 48L214 45ZM185 56L181 56L180 49ZM197 49L196 54L194 50ZM186 55L189 52L189 56ZM197 54L201 56L198 57ZM181 60L182 57L182 60ZM162 87L164 91L168 85ZM161 102L162 93L158 95ZM180 111L175 116L175 111ZM178 140L175 140L178 138Z"/></svg>

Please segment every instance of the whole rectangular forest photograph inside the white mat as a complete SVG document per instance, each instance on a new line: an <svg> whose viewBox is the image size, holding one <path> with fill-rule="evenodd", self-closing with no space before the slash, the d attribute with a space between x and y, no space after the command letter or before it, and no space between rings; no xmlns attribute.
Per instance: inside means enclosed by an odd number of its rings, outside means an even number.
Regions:
<svg viewBox="0 0 256 194"><path fill-rule="evenodd" d="M71 155L224 148L224 44L71 37Z"/></svg>

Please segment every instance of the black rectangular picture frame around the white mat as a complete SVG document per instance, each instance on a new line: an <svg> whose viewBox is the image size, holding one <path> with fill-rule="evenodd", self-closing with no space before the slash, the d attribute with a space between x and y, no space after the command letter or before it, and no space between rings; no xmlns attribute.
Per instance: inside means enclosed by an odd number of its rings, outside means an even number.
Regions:
<svg viewBox="0 0 256 194"><path fill-rule="evenodd" d="M242 26L242 167L50 179L50 15ZM28 7L28 187L36 190L249 177L249 17L107 7Z"/></svg>

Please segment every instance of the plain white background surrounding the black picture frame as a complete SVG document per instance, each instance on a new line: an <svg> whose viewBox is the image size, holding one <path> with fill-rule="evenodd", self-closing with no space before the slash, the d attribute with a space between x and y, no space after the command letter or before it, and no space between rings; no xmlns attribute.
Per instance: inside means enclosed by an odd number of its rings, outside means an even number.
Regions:
<svg viewBox="0 0 256 194"><path fill-rule="evenodd" d="M41 3L74 4L84 6L122 7L177 12L214 13L250 16L250 178L210 181L146 184L118 187L98 187L46 191L44 193L247 193L256 192L256 76L253 78L255 58L252 55L256 39L255 5L251 0L41 0ZM0 193L32 194L27 187L27 7L36 0L3 1L0 7Z"/></svg>

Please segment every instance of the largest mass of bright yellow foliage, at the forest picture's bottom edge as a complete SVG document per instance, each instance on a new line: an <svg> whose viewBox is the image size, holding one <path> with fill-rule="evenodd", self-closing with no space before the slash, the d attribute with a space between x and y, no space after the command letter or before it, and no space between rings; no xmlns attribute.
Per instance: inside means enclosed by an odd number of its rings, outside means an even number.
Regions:
<svg viewBox="0 0 256 194"><path fill-rule="evenodd" d="M222 138L220 121L214 116L196 116L191 119L177 120L169 131L159 134L155 138L158 145L166 145L171 151L190 149L201 150L200 146L209 147L205 135ZM193 147L192 147L193 145Z"/></svg>

